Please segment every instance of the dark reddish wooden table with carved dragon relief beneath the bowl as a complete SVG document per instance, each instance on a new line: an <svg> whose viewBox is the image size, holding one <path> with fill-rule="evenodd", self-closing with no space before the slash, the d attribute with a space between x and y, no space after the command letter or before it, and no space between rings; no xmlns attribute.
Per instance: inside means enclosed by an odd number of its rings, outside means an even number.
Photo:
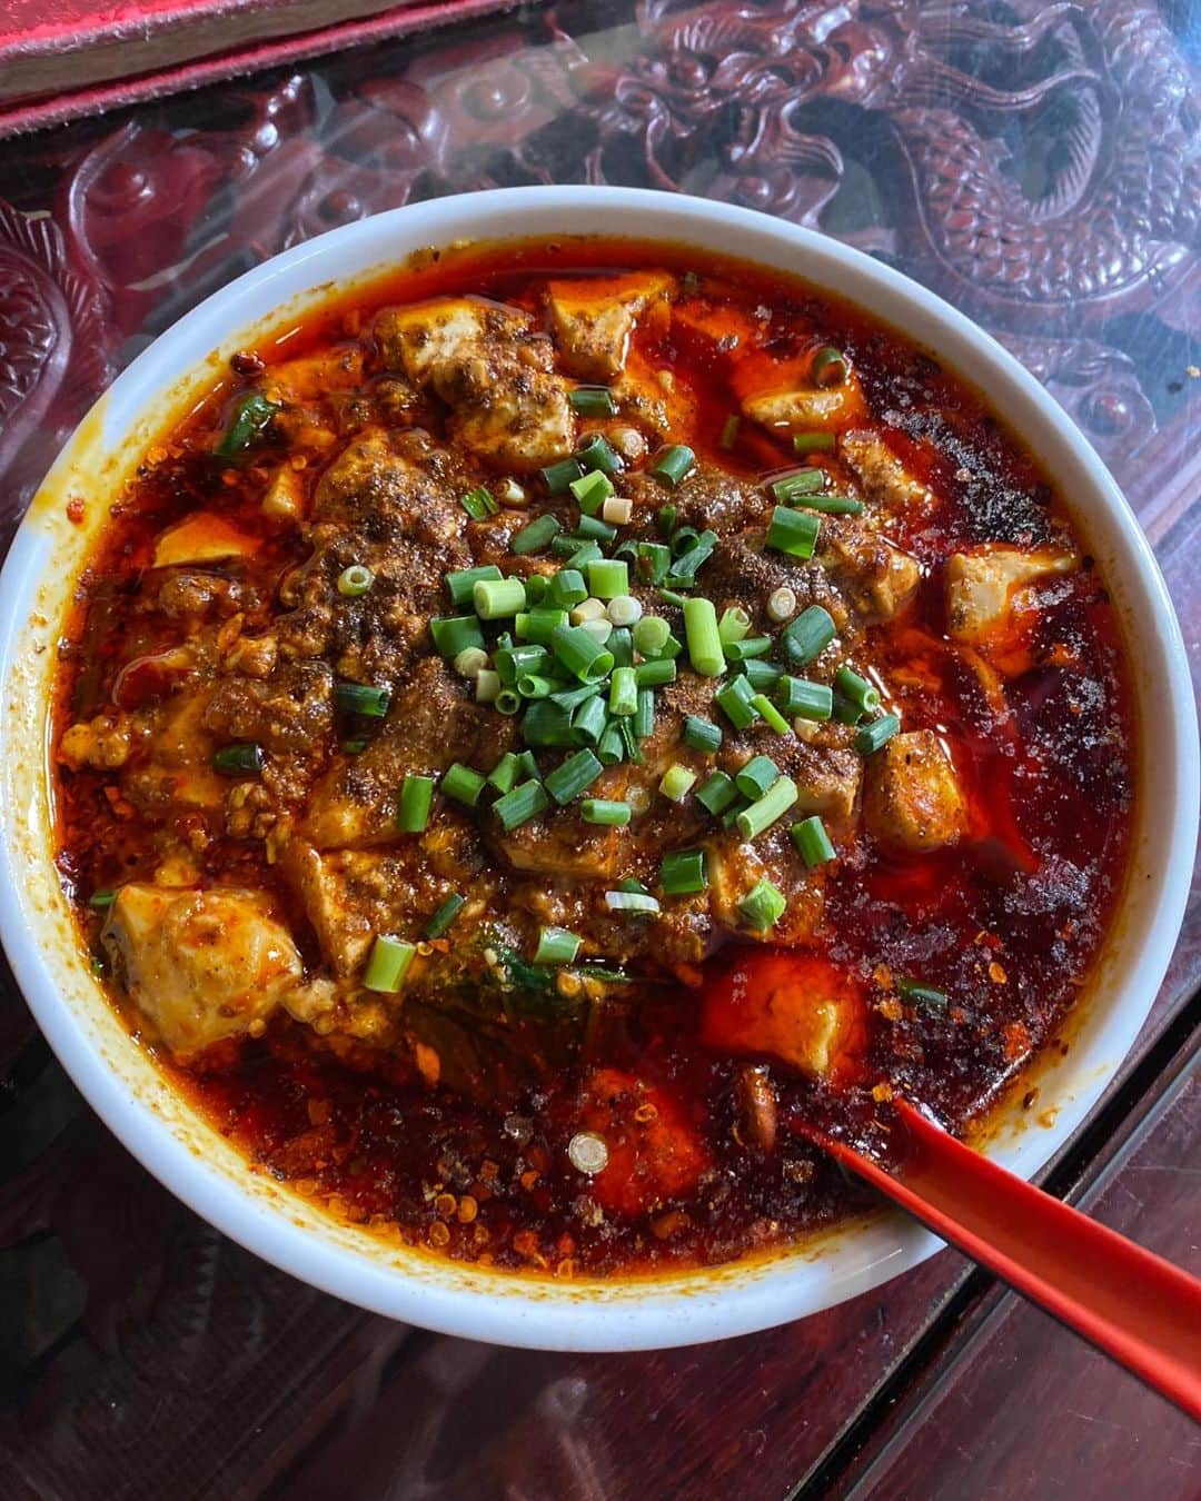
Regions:
<svg viewBox="0 0 1201 1501"><path fill-rule="evenodd" d="M971 311L1126 486L1195 648L1190 17L1186 0L527 6L6 143L6 534L110 375L254 261L434 194L637 183L820 225ZM1133 1057L1048 1175L1193 1267L1199 977L1193 902ZM1201 1493L1186 1418L953 1252L727 1345L491 1349L362 1315L180 1208L80 1102L11 983L0 1072L5 1496Z"/></svg>

